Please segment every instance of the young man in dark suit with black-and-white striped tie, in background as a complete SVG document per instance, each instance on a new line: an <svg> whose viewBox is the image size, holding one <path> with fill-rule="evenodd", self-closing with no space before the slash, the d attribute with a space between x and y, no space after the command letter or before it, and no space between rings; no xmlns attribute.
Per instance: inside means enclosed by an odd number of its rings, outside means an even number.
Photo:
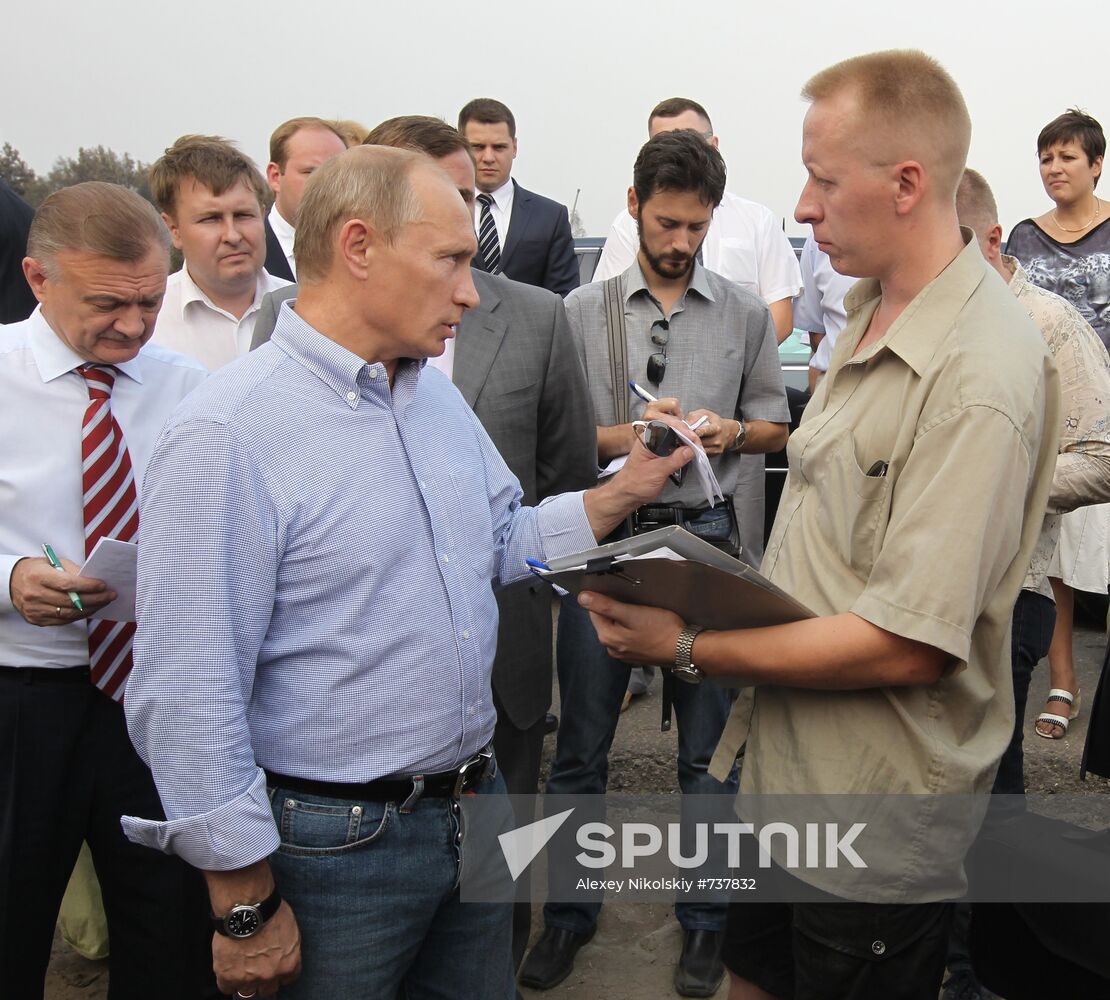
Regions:
<svg viewBox="0 0 1110 1000"><path fill-rule="evenodd" d="M578 287L566 205L526 191L509 176L516 159L513 112L501 101L477 98L458 112L458 131L477 163L475 266L559 295Z"/></svg>

